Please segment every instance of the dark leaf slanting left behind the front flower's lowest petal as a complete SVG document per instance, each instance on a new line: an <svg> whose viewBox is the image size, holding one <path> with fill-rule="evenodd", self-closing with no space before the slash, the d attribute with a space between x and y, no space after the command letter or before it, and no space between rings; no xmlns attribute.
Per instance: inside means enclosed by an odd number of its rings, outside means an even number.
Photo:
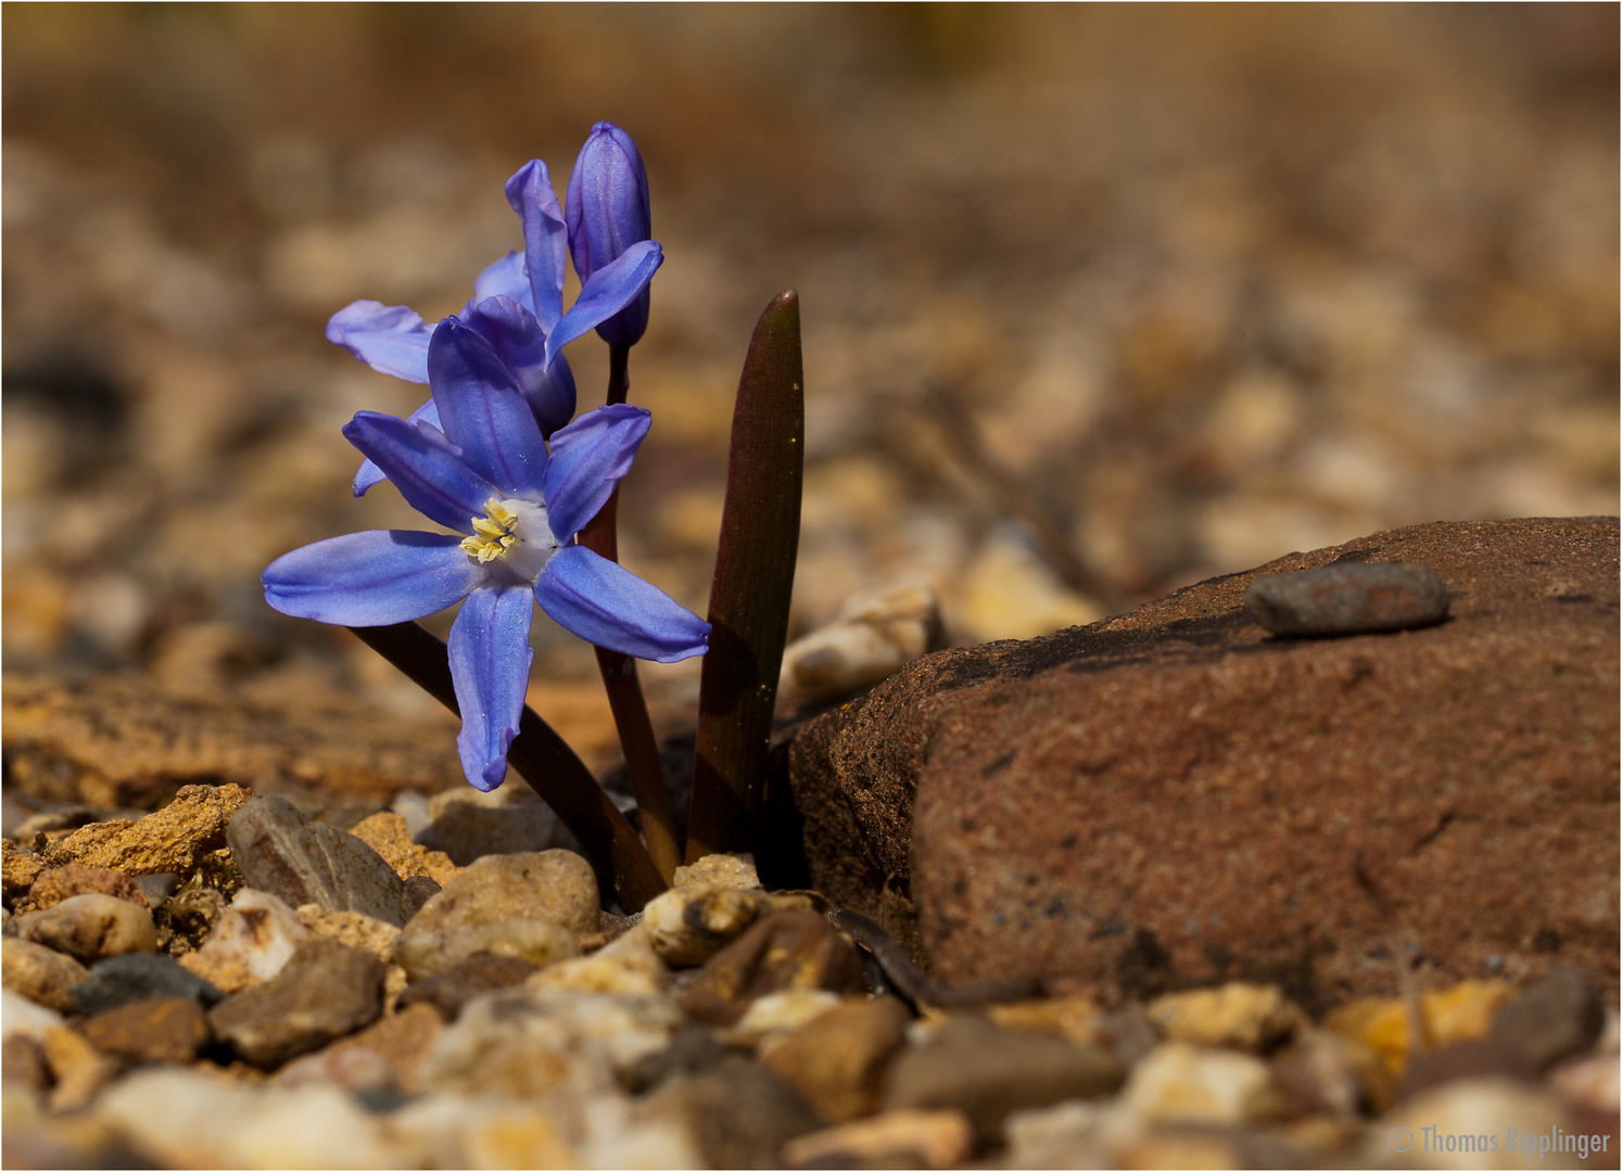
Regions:
<svg viewBox="0 0 1622 1172"><path fill-rule="evenodd" d="M451 682L451 657L443 642L417 622L386 627L350 627L367 647L404 671L414 684L461 715ZM574 832L592 861L599 882L611 885L626 911L665 890L659 867L649 858L631 823L597 785L597 778L553 728L526 707L519 733L508 747L508 764Z"/></svg>

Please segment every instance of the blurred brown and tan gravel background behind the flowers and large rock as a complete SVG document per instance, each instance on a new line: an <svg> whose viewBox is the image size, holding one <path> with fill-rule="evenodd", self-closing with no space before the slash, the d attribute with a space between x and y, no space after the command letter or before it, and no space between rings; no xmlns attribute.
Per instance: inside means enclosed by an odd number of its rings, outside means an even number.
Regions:
<svg viewBox="0 0 1622 1172"><path fill-rule="evenodd" d="M420 527L350 498L337 428L422 387L323 327L461 308L521 246L503 180L542 157L561 191L599 118L667 256L621 554L701 613L738 370L790 285L792 634L921 582L952 642L1028 637L1395 525L1614 514L1617 32L1614 5L8 5L5 666L431 707L258 587ZM568 355L600 402L607 347ZM534 642L566 725L592 655Z"/></svg>

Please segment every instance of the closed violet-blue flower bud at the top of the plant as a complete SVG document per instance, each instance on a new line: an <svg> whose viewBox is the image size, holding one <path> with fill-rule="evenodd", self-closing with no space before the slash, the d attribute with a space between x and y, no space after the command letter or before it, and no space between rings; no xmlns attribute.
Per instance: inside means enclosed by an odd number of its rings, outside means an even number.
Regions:
<svg viewBox="0 0 1622 1172"><path fill-rule="evenodd" d="M581 284L618 259L626 248L652 237L647 170L636 143L611 122L599 122L574 160L564 201L569 255ZM610 345L633 345L647 329L649 290L597 327Z"/></svg>

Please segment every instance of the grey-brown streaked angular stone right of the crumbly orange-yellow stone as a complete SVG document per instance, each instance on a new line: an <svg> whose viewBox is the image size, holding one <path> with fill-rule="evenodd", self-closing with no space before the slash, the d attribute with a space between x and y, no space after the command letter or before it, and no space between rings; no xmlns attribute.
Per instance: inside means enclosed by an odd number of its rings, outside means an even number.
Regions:
<svg viewBox="0 0 1622 1172"><path fill-rule="evenodd" d="M375 849L350 833L310 822L276 794L255 798L225 830L242 877L298 908L358 911L402 926L415 911L406 880Z"/></svg>

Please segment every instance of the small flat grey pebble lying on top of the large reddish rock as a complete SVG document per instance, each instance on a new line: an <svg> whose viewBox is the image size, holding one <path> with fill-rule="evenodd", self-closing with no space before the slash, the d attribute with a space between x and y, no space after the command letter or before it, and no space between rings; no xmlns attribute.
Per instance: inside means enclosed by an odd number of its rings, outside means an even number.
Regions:
<svg viewBox="0 0 1622 1172"><path fill-rule="evenodd" d="M1447 618L1447 587L1421 562L1338 562L1264 574L1246 613L1275 635L1356 635L1427 627Z"/></svg>

